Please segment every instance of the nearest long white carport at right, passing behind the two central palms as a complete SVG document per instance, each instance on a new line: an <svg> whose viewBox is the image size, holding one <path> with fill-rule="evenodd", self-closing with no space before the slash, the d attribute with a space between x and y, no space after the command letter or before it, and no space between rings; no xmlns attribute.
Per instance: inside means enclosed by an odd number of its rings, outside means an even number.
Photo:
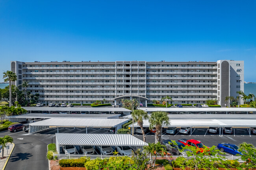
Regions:
<svg viewBox="0 0 256 170"><path fill-rule="evenodd" d="M164 128L167 127L190 127L192 134L192 128L195 127L219 127L220 128L220 135L221 135L221 128L223 127L256 127L256 120L255 119L169 119L169 126L163 124ZM150 125L148 119L143 120L143 127L148 128ZM129 127L132 128L139 127L137 122L134 124L130 124ZM250 131L249 131L250 134Z"/></svg>

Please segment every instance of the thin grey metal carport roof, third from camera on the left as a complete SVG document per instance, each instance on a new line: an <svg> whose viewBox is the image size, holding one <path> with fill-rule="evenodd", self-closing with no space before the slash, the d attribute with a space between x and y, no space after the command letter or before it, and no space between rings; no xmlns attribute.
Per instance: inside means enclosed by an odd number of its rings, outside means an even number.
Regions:
<svg viewBox="0 0 256 170"><path fill-rule="evenodd" d="M28 113L24 115L7 116L7 118L70 118L70 119L111 119L116 118L120 114L43 114L43 113Z"/></svg>

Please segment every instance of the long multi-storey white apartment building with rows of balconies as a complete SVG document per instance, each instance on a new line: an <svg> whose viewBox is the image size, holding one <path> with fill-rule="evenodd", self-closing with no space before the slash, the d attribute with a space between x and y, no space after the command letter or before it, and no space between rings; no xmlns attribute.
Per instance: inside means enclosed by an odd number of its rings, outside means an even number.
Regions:
<svg viewBox="0 0 256 170"><path fill-rule="evenodd" d="M170 96L172 104L203 104L243 91L243 61L217 62L19 62L11 61L16 86L28 81L28 91L39 93L37 102L115 104L122 95L147 97L148 103ZM19 86L21 90L22 87ZM141 101L145 106L146 101ZM241 101L241 103L243 103ZM116 101L121 104L121 101Z"/></svg>

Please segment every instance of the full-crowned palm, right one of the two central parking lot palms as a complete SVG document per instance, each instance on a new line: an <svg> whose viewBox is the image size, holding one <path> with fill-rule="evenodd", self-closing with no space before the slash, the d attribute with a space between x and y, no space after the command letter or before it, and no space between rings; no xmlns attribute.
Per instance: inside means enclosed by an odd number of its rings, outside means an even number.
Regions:
<svg viewBox="0 0 256 170"><path fill-rule="evenodd" d="M152 112L149 118L149 129L156 128L155 143L161 141L162 125L168 126L170 124L169 117L166 112Z"/></svg>

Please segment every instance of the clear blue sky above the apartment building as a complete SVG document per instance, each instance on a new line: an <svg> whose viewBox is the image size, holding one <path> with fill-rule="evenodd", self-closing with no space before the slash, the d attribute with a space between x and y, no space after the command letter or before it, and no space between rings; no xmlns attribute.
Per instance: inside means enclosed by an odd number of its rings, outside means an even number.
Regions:
<svg viewBox="0 0 256 170"><path fill-rule="evenodd" d="M255 0L0 0L0 82L10 60L244 60L256 82Z"/></svg>

